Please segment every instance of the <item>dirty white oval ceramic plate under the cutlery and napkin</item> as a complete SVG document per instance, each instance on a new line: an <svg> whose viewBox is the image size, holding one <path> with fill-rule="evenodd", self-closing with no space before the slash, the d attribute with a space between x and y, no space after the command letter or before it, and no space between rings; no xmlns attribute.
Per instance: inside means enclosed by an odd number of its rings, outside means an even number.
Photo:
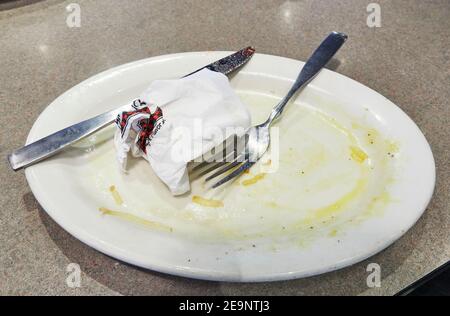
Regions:
<svg viewBox="0 0 450 316"><path fill-rule="evenodd" d="M227 54L160 56L98 74L50 104L27 143L132 100L154 79L179 77ZM232 78L255 122L302 65L256 54ZM435 182L430 147L414 122L373 90L324 70L277 128L280 155L270 168L255 166L220 191L197 179L191 195L173 198L142 160L121 174L112 128L27 168L26 176L46 212L91 247L209 280L284 280L348 266L392 244L424 212ZM192 195L224 207L200 206ZM119 213L102 214L100 207Z"/></svg>

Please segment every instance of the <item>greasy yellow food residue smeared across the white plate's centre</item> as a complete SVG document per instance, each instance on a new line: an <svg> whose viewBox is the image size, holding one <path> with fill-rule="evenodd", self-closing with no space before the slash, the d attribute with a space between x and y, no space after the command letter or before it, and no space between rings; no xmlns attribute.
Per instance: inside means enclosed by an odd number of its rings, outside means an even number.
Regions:
<svg viewBox="0 0 450 316"><path fill-rule="evenodd" d="M276 100L269 101L268 109ZM254 103L260 106L259 99ZM192 181L191 194L172 198L145 164L130 170L126 180L139 181L127 182L132 190L122 192L122 176L108 167L109 151L97 150L92 154L97 157L95 173L89 175L102 180L98 187L109 199L111 194L117 204L123 203L117 207L121 212L103 209L102 213L152 227L168 225L193 240L271 238L279 249L287 239L306 247L320 237L339 238L347 229L381 216L395 201L388 193L397 158L403 157L397 141L365 121L353 123L355 119L346 113L312 107L292 113L278 123L283 133L279 158L261 159L235 185L214 195L199 178ZM302 124L293 125L290 118L302 118ZM278 168L273 174L264 172L269 162ZM116 186L110 187L113 183ZM146 223L141 215L156 223Z"/></svg>

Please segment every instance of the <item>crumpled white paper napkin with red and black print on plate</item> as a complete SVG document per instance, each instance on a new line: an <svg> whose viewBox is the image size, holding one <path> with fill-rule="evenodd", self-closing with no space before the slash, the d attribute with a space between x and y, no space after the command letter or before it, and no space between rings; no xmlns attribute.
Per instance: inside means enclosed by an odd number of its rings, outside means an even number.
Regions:
<svg viewBox="0 0 450 316"><path fill-rule="evenodd" d="M116 120L117 160L145 158L173 195L190 190L187 163L250 126L250 113L228 78L203 69L177 80L157 80Z"/></svg>

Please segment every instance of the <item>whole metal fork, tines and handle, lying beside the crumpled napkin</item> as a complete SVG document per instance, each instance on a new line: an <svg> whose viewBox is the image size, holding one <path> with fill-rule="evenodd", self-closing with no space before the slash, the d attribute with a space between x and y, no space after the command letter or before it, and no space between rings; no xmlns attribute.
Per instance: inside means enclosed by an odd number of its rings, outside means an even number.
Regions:
<svg viewBox="0 0 450 316"><path fill-rule="evenodd" d="M262 124L250 127L244 135L239 138L244 142L244 146L241 146L242 151L236 151L235 149L231 153L227 154L225 157L225 162L219 162L216 165L210 166L202 173L210 173L222 167L205 179L205 181L210 181L227 171L232 171L212 185L212 188L217 188L218 186L238 177L244 171L253 166L264 155L270 144L269 130L272 123L280 117L284 107L294 96L294 94L299 89L306 86L319 73L319 71L330 61L330 59L339 50L339 48L341 48L346 40L347 35L343 33L332 32L328 35L303 66L300 74L286 96L273 108L269 118ZM229 163L226 163L228 161L227 159L230 157L234 159L229 161ZM198 167L205 165L206 163L202 163Z"/></svg>

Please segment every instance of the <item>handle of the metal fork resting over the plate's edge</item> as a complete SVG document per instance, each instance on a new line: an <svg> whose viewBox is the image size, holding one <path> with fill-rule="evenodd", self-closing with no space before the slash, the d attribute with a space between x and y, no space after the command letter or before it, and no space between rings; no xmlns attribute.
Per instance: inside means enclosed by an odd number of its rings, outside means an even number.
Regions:
<svg viewBox="0 0 450 316"><path fill-rule="evenodd" d="M339 32L332 32L325 38L320 46L306 61L300 74L294 82L294 85L286 94L286 96L272 110L272 113L265 124L270 125L283 112L284 107L292 98L292 96L309 81L311 81L320 70L333 58L334 54L341 48L347 40L347 35Z"/></svg>

